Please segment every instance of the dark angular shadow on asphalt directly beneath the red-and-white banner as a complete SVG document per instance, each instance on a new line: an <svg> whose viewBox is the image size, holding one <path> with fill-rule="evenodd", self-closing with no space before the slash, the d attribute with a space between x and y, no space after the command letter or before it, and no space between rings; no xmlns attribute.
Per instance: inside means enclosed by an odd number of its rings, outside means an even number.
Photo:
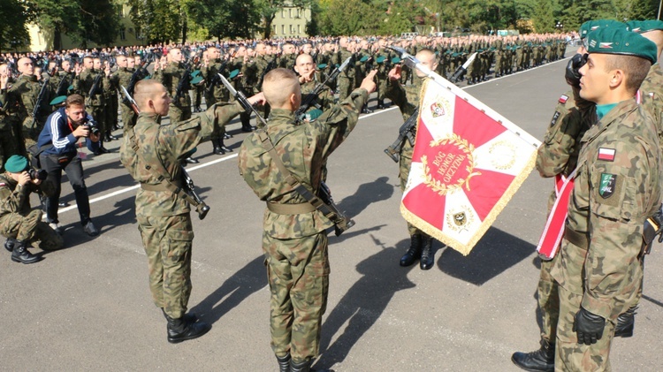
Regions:
<svg viewBox="0 0 663 372"><path fill-rule="evenodd" d="M473 285L484 285L529 257L536 249L525 240L491 227L467 257L446 247L438 259L438 268Z"/></svg>

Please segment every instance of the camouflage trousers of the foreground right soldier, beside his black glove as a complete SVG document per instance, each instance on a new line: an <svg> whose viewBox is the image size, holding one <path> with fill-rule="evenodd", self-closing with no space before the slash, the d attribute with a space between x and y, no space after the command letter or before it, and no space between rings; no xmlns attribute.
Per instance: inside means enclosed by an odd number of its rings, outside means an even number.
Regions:
<svg viewBox="0 0 663 372"><path fill-rule="evenodd" d="M580 310L583 294L570 292L559 286L560 320L555 345L555 371L609 371L610 345L613 342L614 323L606 321L603 337L596 344L578 344L573 330L575 314Z"/></svg>

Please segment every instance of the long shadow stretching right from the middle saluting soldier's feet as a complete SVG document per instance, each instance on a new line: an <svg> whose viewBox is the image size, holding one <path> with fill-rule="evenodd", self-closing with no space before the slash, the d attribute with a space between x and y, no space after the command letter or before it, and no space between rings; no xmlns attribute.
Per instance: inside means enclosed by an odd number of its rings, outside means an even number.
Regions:
<svg viewBox="0 0 663 372"><path fill-rule="evenodd" d="M375 237L377 245L382 245ZM415 267L400 268L400 255L409 247L409 239L401 240L396 247L383 247L357 264L362 277L347 291L339 304L326 317L320 340L323 351L316 362L316 369L331 368L346 359L354 344L376 323L396 292L414 288L408 272ZM385 285L387 284L387 285ZM347 327L333 343L331 338L346 322Z"/></svg>

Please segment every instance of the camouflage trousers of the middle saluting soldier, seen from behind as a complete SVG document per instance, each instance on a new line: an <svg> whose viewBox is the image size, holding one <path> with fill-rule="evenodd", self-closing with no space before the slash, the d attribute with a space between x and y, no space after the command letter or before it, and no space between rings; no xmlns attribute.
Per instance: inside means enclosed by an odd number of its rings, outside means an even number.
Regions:
<svg viewBox="0 0 663 372"><path fill-rule="evenodd" d="M295 362L313 359L327 307L327 233L300 239L263 233L263 251L271 292L271 349L279 357L289 352Z"/></svg>

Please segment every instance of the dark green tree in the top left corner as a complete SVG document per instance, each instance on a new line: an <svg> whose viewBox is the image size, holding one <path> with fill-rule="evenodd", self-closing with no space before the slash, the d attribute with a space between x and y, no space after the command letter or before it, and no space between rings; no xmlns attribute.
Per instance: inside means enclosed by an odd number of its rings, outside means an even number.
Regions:
<svg viewBox="0 0 663 372"><path fill-rule="evenodd" d="M3 0L0 5L0 51L17 49L30 44L27 33L27 22L31 13L26 4L20 0Z"/></svg>

